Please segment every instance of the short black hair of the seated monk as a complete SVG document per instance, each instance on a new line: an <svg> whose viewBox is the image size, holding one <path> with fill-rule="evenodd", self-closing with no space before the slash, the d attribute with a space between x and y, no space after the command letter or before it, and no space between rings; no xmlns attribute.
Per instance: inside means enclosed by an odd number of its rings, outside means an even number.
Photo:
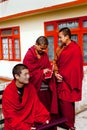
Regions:
<svg viewBox="0 0 87 130"><path fill-rule="evenodd" d="M15 79L15 74L20 75L20 74L21 74L21 71L22 71L23 69L28 69L28 67L27 67L26 65L24 65L24 64L21 64L21 63L15 65L15 66L13 67L13 69L12 69L12 74L13 74L14 79Z"/></svg>

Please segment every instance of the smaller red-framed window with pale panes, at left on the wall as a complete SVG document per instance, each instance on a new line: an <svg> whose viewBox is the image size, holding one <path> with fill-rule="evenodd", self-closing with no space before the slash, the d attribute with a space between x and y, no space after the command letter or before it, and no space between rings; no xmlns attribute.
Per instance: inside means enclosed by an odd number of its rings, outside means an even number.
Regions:
<svg viewBox="0 0 87 130"><path fill-rule="evenodd" d="M1 29L0 41L1 60L21 60L19 27Z"/></svg>

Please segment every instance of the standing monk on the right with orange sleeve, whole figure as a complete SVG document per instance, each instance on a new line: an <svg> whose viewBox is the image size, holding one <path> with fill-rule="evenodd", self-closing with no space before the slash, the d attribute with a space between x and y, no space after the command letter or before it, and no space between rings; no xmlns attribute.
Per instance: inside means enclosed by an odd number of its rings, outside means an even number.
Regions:
<svg viewBox="0 0 87 130"><path fill-rule="evenodd" d="M75 102L82 98L83 58L79 45L71 40L69 28L59 30L59 40L61 46L54 58L59 114L68 119L62 127L75 130Z"/></svg>

